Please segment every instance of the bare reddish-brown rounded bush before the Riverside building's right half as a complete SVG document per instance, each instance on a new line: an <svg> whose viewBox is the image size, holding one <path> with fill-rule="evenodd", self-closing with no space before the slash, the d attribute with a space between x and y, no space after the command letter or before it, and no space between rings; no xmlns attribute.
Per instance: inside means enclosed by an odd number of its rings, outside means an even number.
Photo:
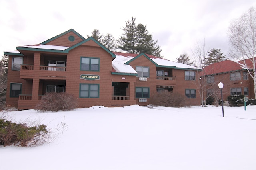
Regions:
<svg viewBox="0 0 256 170"><path fill-rule="evenodd" d="M150 104L165 107L184 107L185 97L176 92L156 93L150 98Z"/></svg>

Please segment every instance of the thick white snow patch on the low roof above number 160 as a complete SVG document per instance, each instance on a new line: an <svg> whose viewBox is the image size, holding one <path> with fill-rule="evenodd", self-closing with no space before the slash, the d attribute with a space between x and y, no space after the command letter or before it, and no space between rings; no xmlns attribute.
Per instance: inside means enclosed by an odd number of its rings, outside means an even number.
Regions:
<svg viewBox="0 0 256 170"><path fill-rule="evenodd" d="M133 57L116 55L116 58L112 61L112 66L116 70L116 72L137 74L137 72L132 68L132 66L124 64L130 59L133 59Z"/></svg>

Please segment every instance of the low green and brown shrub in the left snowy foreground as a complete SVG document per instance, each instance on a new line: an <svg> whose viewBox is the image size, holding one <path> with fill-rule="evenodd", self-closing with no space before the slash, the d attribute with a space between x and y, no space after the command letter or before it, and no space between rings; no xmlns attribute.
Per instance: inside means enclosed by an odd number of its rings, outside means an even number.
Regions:
<svg viewBox="0 0 256 170"><path fill-rule="evenodd" d="M14 123L0 119L0 145L42 145L48 139L46 125L28 127L27 123Z"/></svg>

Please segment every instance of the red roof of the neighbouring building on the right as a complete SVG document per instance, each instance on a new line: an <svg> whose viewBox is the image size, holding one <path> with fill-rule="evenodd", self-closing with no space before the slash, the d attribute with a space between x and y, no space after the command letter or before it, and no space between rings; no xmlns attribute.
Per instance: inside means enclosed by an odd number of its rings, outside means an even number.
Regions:
<svg viewBox="0 0 256 170"><path fill-rule="evenodd" d="M210 64L203 68L202 74L211 75L211 74L221 74L232 71L244 70L244 67L236 61L224 60L218 63Z"/></svg>

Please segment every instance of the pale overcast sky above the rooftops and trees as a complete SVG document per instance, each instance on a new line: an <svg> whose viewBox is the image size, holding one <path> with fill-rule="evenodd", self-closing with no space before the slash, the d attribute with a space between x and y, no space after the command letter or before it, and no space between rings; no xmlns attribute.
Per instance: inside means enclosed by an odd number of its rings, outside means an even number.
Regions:
<svg viewBox="0 0 256 170"><path fill-rule="evenodd" d="M256 0L0 0L0 53L39 44L69 29L122 34L125 21L147 26L165 59L176 61L196 43L228 53L227 30Z"/></svg>

